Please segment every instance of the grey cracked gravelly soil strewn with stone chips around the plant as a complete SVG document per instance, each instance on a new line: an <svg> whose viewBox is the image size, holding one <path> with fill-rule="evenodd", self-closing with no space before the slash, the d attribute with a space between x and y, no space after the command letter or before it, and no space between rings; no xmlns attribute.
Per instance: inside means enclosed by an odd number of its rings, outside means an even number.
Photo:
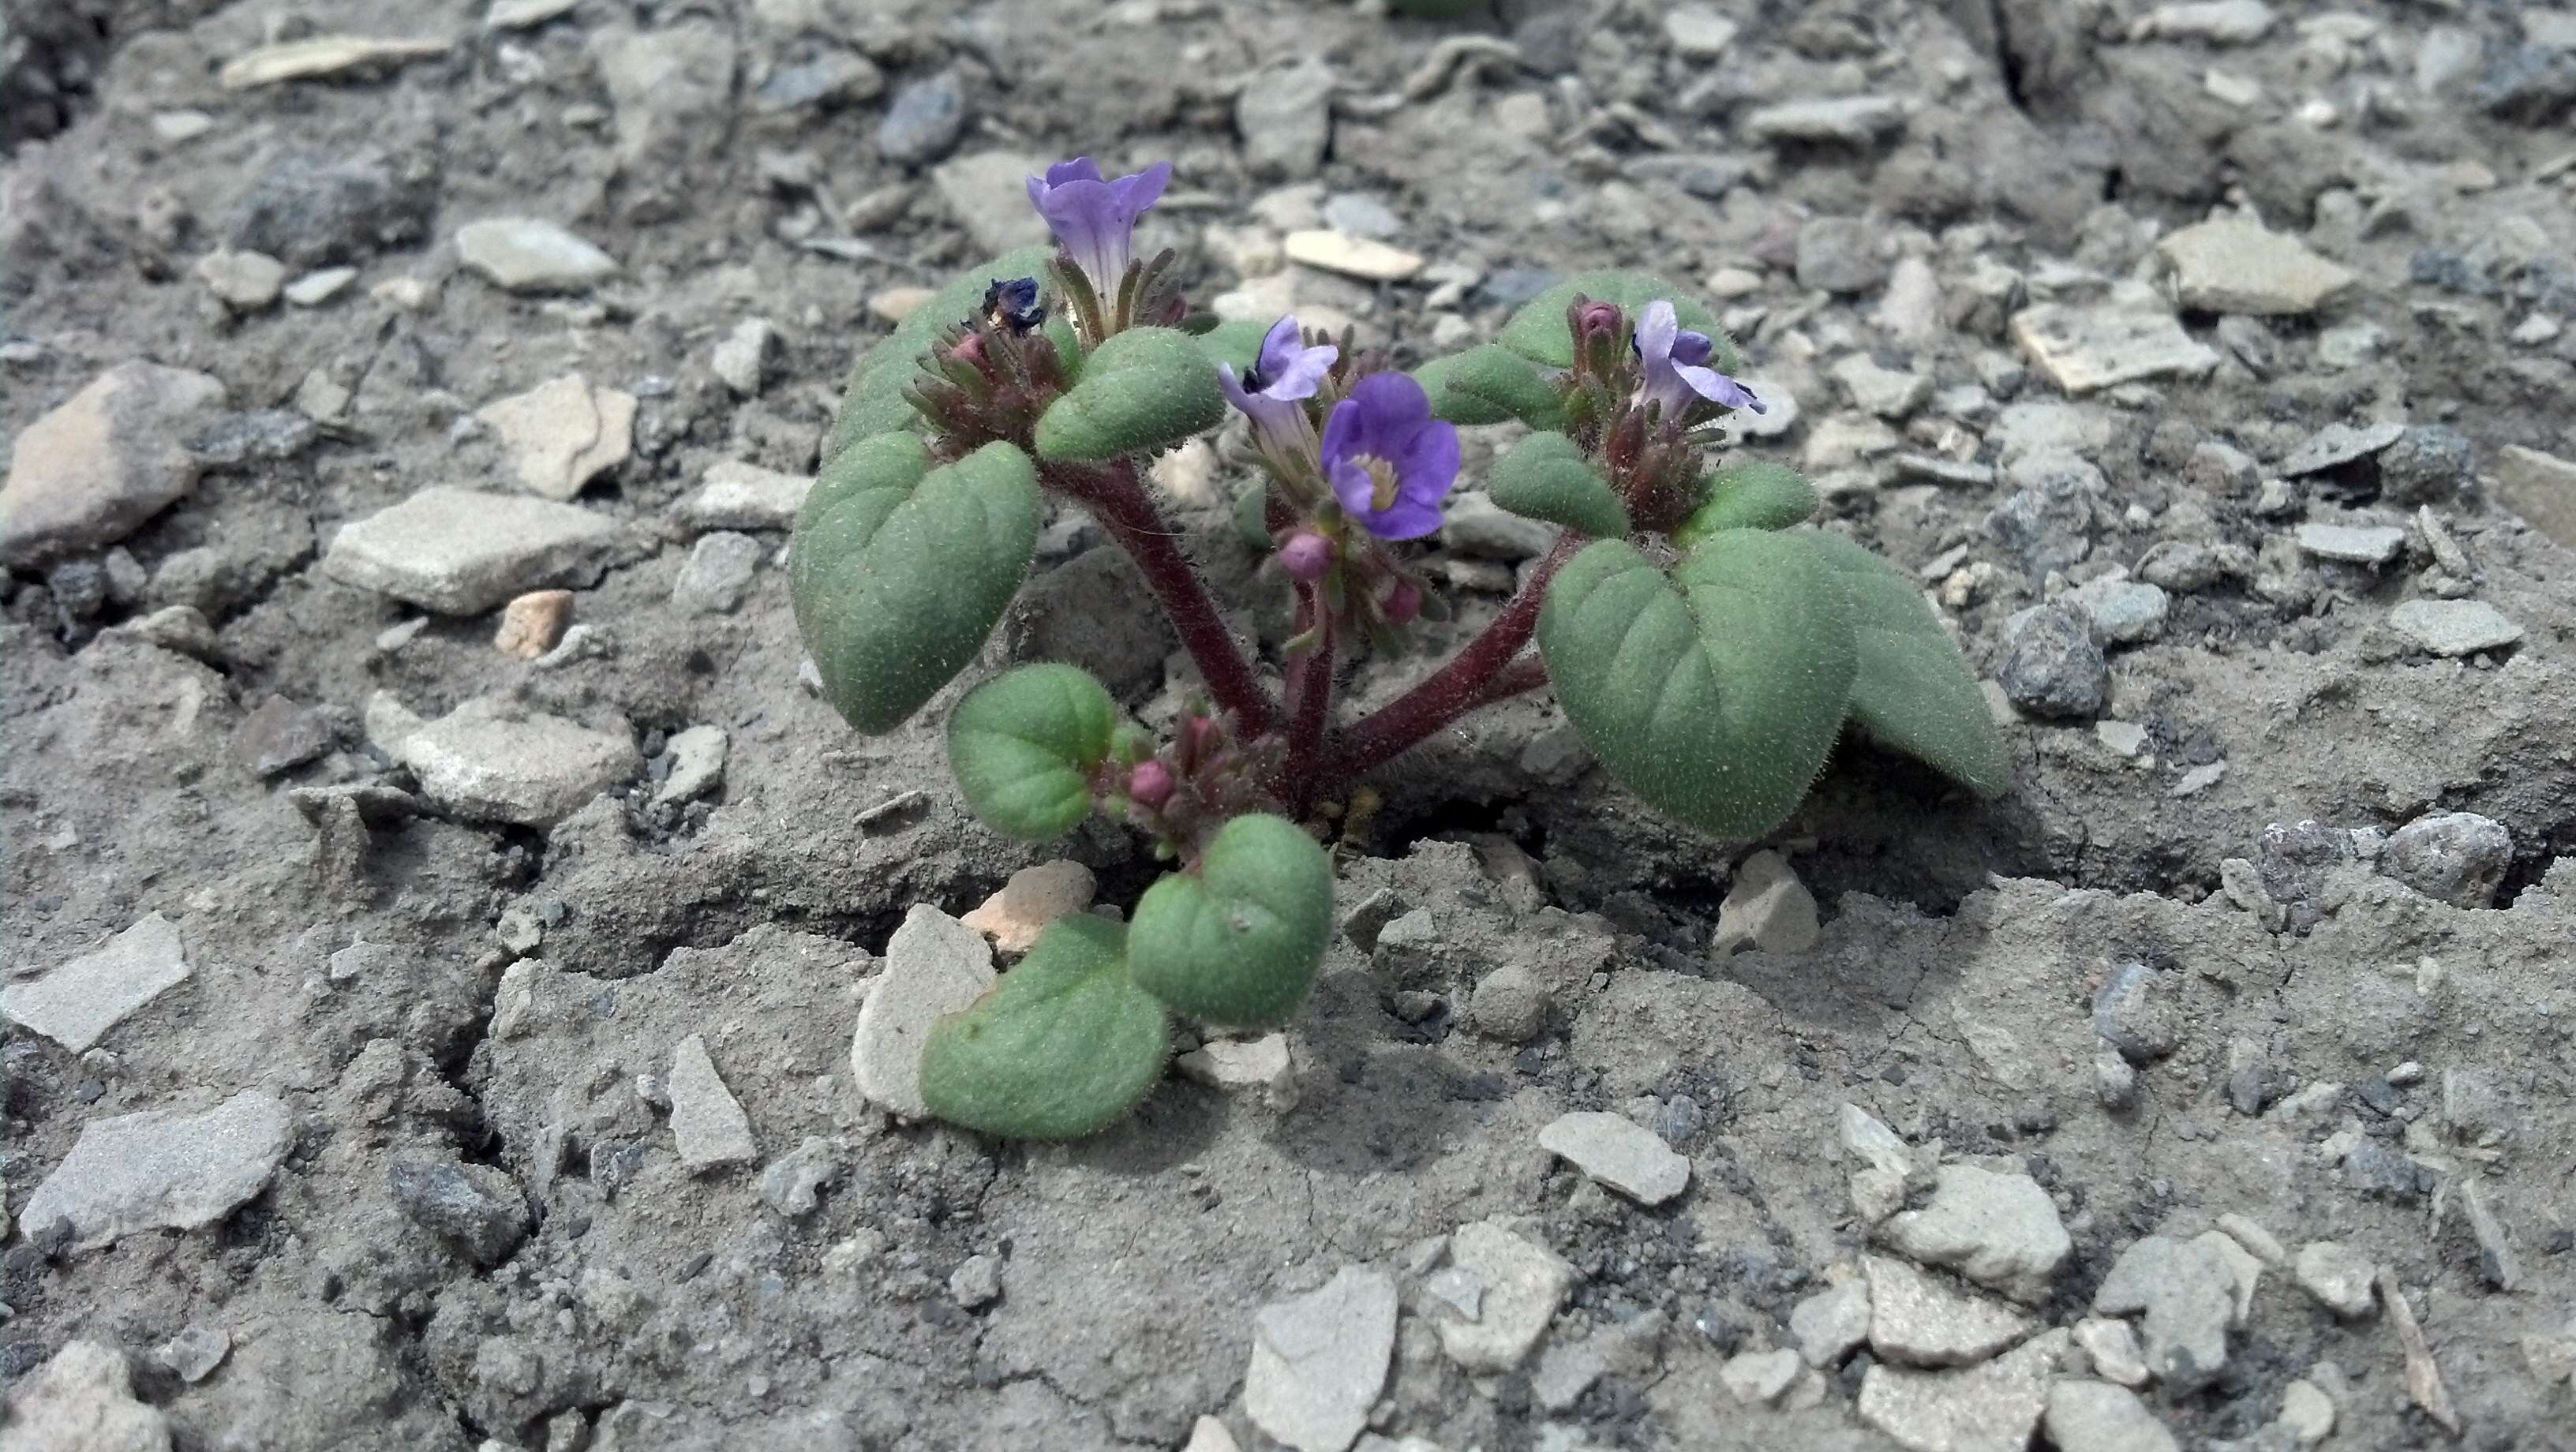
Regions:
<svg viewBox="0 0 2576 1452"><path fill-rule="evenodd" d="M44 0L5 64L13 1449L2576 1447L2568 10ZM2014 790L1855 747L1716 844L1517 703L1345 821L1291 1032L1072 1148L894 1112L1151 862L1015 878L778 551L1074 152L1399 360L1700 286ZM1157 469L1236 582L1244 458ZM1172 711L1095 546L994 659ZM1430 644L1530 554L1461 505Z"/></svg>

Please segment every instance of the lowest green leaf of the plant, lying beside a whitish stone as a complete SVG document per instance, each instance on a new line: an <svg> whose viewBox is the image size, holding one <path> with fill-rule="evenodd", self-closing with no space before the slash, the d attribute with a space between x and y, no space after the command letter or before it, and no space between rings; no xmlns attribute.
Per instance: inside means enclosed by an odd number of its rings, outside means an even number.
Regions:
<svg viewBox="0 0 2576 1452"><path fill-rule="evenodd" d="M1133 1110L1162 1079L1170 1030L1128 978L1123 940L1115 922L1059 917L989 994L930 1025L930 1112L1012 1140L1077 1140Z"/></svg>

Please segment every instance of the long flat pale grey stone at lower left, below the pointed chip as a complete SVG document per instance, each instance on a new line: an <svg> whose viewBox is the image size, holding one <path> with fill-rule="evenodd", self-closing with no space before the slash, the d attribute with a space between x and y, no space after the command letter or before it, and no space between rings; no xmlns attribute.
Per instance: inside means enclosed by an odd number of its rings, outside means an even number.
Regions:
<svg viewBox="0 0 2576 1452"><path fill-rule="evenodd" d="M294 1143L286 1104L260 1089L214 1110L93 1120L26 1200L18 1223L33 1233L70 1220L75 1251L137 1231L196 1231L258 1195Z"/></svg>

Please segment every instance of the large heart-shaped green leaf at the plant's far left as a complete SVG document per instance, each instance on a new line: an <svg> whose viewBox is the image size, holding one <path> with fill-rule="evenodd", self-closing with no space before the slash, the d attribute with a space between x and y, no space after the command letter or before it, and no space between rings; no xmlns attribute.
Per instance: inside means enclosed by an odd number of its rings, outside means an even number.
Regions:
<svg viewBox="0 0 2576 1452"><path fill-rule="evenodd" d="M1038 551L1038 471L1007 443L930 469L909 433L866 438L814 479L788 541L796 631L842 721L904 723L1020 592Z"/></svg>

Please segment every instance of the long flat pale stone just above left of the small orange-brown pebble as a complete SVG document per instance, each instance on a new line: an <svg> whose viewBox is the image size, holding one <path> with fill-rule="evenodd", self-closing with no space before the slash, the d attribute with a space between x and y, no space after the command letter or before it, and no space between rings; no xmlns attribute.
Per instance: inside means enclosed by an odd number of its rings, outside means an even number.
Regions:
<svg viewBox="0 0 2576 1452"><path fill-rule="evenodd" d="M340 525L322 574L440 615L484 610L541 584L590 584L616 523L577 505L430 487Z"/></svg>

